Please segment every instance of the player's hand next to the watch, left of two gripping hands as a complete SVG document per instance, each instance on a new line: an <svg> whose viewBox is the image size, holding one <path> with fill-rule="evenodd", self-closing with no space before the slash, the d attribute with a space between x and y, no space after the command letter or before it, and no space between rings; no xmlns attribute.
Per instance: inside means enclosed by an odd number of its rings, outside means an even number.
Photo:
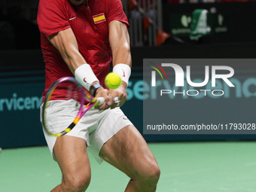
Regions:
<svg viewBox="0 0 256 192"><path fill-rule="evenodd" d="M99 89L97 89L95 97L96 98L103 97L105 99L105 102L103 102L102 105L100 106L98 105L95 107L95 108L98 108L100 111L111 108L111 106L114 105L114 97L111 96L108 93L108 90L104 89L103 87L99 87Z"/></svg>

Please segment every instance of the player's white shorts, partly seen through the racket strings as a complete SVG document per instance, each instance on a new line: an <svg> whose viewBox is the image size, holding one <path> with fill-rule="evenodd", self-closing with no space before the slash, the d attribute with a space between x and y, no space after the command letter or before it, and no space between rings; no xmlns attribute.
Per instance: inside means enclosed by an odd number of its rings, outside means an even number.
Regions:
<svg viewBox="0 0 256 192"><path fill-rule="evenodd" d="M74 110L75 106L77 106L77 102L73 99L50 101L47 110L51 114L50 120L53 126L56 126L56 129L64 130L66 126L69 126L62 123L63 118L70 118L70 123L72 123L78 114L78 110ZM105 111L91 108L81 117L81 120L79 120L73 130L66 135L84 139L88 145L87 151L93 155L98 163L102 163L103 160L99 157L102 145L119 130L123 129L123 127L131 124L133 123L128 120L120 108L107 109ZM53 154L56 137L48 135L45 130L44 137L53 159L56 160Z"/></svg>

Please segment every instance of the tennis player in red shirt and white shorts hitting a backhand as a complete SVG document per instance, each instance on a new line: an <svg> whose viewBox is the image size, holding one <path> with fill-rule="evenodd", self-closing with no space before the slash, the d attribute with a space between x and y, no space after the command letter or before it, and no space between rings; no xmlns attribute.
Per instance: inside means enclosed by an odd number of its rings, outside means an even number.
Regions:
<svg viewBox="0 0 256 192"><path fill-rule="evenodd" d="M105 98L65 136L56 138L44 133L62 171L62 183L52 191L87 189L91 177L87 151L99 163L105 160L131 178L125 191L155 191L160 177L157 161L119 108L127 99L132 65L129 23L120 0L40 0L38 27L45 62L45 91L57 79L74 76L93 96ZM113 72L123 81L116 90L106 89L104 83L111 61ZM52 117L48 120L61 130L62 119L75 117L75 103L62 100L61 92L58 98L49 107Z"/></svg>

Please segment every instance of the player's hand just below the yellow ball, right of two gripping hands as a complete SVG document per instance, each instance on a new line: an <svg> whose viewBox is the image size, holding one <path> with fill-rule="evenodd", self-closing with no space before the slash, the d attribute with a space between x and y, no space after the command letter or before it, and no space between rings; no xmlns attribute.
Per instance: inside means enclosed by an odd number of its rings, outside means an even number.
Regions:
<svg viewBox="0 0 256 192"><path fill-rule="evenodd" d="M118 98L115 102L112 103L111 108L122 106L127 100L126 83L123 82L117 89L109 89L108 93L111 96Z"/></svg>

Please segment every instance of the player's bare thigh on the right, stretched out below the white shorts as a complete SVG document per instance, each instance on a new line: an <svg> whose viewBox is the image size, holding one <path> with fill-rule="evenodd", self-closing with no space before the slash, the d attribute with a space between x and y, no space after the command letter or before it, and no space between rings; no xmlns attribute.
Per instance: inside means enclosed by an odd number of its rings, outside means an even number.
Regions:
<svg viewBox="0 0 256 192"><path fill-rule="evenodd" d="M99 156L132 179L160 174L154 155L133 125L124 127L109 139Z"/></svg>

